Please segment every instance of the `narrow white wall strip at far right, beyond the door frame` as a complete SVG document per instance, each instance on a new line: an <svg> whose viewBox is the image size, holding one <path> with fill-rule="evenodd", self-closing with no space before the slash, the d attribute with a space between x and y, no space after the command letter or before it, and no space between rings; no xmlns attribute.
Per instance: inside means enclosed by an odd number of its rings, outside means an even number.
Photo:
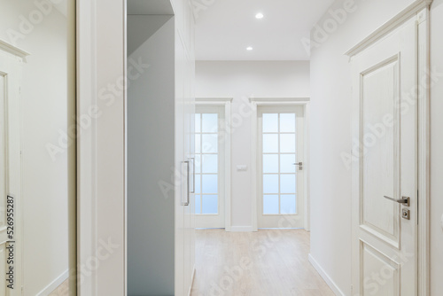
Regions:
<svg viewBox="0 0 443 296"><path fill-rule="evenodd" d="M443 291L443 1L431 6L431 67L438 82L431 89L431 295Z"/></svg>

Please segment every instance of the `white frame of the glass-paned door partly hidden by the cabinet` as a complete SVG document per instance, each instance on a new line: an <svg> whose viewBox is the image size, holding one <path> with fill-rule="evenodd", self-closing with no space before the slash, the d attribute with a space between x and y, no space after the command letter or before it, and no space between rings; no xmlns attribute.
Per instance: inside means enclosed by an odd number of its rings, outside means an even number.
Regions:
<svg viewBox="0 0 443 296"><path fill-rule="evenodd" d="M196 97L196 105L217 105L224 107L225 126L222 130L224 133L224 224L225 230L231 231L231 103L232 97Z"/></svg>

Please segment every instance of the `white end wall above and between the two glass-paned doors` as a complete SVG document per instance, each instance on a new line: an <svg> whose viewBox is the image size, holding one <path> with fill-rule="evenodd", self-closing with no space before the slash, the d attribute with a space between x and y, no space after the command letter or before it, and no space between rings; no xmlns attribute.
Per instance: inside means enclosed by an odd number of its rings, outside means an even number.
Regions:
<svg viewBox="0 0 443 296"><path fill-rule="evenodd" d="M252 227L251 105L249 97L309 97L307 61L198 61L196 97L233 97L232 226ZM248 170L237 172L237 165Z"/></svg>

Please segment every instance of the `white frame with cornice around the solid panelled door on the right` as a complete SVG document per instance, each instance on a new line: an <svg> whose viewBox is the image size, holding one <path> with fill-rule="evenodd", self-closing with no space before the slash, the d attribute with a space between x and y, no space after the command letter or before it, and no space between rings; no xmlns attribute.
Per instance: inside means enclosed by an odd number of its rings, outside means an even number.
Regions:
<svg viewBox="0 0 443 296"><path fill-rule="evenodd" d="M417 0L404 11L379 27L361 43L355 45L346 55L352 58L361 51L400 27L406 20L416 16L418 36L418 75L416 80L418 96L418 295L430 293L430 5L432 0ZM353 114L353 117L357 114ZM354 187L354 182L353 182ZM354 188L353 188L354 192ZM354 194L354 193L353 193ZM354 204L354 198L353 198ZM353 205L354 208L354 205ZM354 239L354 235L353 235ZM353 244L354 245L354 244ZM355 263L353 263L354 266Z"/></svg>

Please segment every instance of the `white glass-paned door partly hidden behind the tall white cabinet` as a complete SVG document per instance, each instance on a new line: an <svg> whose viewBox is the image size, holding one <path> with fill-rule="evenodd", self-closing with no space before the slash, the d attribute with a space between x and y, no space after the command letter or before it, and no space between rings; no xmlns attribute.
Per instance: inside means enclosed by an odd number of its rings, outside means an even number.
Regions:
<svg viewBox="0 0 443 296"><path fill-rule="evenodd" d="M225 227L223 122L223 106L196 106L196 228Z"/></svg>

